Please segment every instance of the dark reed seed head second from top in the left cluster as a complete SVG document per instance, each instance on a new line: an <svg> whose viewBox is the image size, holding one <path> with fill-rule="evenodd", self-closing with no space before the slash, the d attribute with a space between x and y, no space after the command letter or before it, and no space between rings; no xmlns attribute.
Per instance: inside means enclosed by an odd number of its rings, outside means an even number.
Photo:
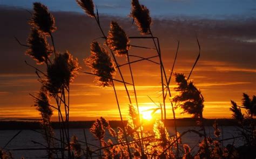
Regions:
<svg viewBox="0 0 256 159"><path fill-rule="evenodd" d="M37 64L47 63L51 51L48 42L43 34L38 32L35 28L32 28L30 36L28 38L29 49L25 54L36 60Z"/></svg>

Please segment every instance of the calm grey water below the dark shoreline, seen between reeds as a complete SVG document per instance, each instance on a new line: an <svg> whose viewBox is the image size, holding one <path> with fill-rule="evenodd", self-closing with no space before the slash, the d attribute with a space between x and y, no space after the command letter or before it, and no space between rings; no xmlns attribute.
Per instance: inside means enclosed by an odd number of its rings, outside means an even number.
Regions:
<svg viewBox="0 0 256 159"><path fill-rule="evenodd" d="M172 127L169 127L167 129L170 135L174 134L173 133L174 129ZM188 129L198 129L198 128L197 127L178 127L178 131L180 133L187 131ZM207 132L210 133L211 136L213 136L212 134L213 128L206 127L206 129L207 129ZM223 127L223 131L224 131L224 139L232 138L232 135L233 136L238 135L237 128L235 127L226 126L226 127ZM4 145L17 132L18 130L0 131L0 147L4 147ZM56 130L55 133L56 133L56 136L58 136L58 130ZM70 129L70 135L76 135L78 137L78 140L84 141L83 129ZM86 135L87 135L87 142L98 145L98 141L96 141L95 138L93 138L93 136L89 132L89 129L86 129ZM44 140L41 134L29 131L29 130L24 130L14 140L12 140L12 142L8 144L6 149L41 148L42 147L42 146L39 146L38 144L34 144L32 141L44 143ZM201 139L197 134L194 134L194 133L185 134L182 138L182 142L189 144L191 148L196 146L199 141L201 141ZM233 140L225 141L224 145L228 143L232 144ZM235 139L236 146L238 146L241 143L242 143L241 140ZM194 147L194 150L196 149L197 147ZM46 153L44 150L16 150L16 151L12 151L12 154L14 155L15 158L21 158L22 156L25 158L43 158L46 156Z"/></svg>

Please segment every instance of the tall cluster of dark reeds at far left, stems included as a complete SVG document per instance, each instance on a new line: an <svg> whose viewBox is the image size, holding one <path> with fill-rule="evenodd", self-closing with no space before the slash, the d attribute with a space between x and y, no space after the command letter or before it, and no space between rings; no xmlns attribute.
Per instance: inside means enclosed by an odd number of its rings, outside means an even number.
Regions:
<svg viewBox="0 0 256 159"><path fill-rule="evenodd" d="M57 30L55 18L48 8L42 3L33 3L33 13L29 20L31 33L28 47L25 54L32 57L37 65L45 64L45 70L40 70L36 66L25 61L25 63L35 69L41 89L37 95L30 94L35 99L36 109L42 117L43 136L46 146L41 144L48 151L48 158L55 156L60 158L71 158L70 133L69 133L69 109L70 109L70 83L78 75L78 60L73 58L69 52L59 53L55 48L52 33ZM49 44L49 40L51 44ZM17 40L17 39L16 39ZM18 41L18 40L17 40ZM19 42L19 41L18 41ZM19 44L21 44L19 42ZM53 56L52 56L53 55ZM55 100L55 104L50 104L50 98ZM51 116L53 110L57 111L60 125L59 139L55 138L51 126ZM57 140L57 141L56 141ZM74 141L73 141L74 142ZM55 155L55 156L53 156Z"/></svg>

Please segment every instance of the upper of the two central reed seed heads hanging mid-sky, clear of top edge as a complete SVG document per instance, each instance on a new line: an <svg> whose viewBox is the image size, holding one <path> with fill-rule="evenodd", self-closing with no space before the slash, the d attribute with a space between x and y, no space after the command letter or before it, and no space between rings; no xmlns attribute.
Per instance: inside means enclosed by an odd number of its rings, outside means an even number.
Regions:
<svg viewBox="0 0 256 159"><path fill-rule="evenodd" d="M127 54L130 46L125 31L120 27L117 22L112 21L110 24L109 34L107 36L106 44L109 48L116 52L116 55Z"/></svg>

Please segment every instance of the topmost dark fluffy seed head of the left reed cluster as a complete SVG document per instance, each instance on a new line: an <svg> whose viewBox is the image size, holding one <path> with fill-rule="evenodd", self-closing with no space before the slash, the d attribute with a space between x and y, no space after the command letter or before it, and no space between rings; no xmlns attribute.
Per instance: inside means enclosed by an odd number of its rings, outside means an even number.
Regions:
<svg viewBox="0 0 256 159"><path fill-rule="evenodd" d="M52 14L48 11L47 6L42 3L33 3L33 16L30 20L30 25L36 27L46 35L56 30L55 19Z"/></svg>

